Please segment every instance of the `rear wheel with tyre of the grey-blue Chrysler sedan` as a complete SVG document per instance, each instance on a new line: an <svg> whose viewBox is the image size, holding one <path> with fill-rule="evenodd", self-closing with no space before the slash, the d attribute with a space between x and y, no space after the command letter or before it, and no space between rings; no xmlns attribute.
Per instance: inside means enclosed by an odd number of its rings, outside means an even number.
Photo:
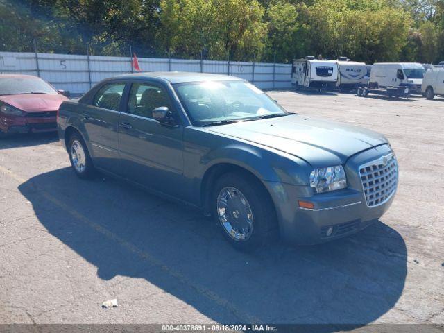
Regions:
<svg viewBox="0 0 444 333"><path fill-rule="evenodd" d="M92 178L94 176L94 165L89 156L87 146L77 133L74 133L69 138L68 154L69 160L71 161L71 167L74 169L77 176L83 179Z"/></svg>

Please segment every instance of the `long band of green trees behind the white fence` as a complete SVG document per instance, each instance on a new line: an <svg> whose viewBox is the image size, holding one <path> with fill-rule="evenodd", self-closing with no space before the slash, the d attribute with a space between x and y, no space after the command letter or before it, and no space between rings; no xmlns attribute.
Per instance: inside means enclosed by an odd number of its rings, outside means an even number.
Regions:
<svg viewBox="0 0 444 333"><path fill-rule="evenodd" d="M444 60L444 0L0 0L1 51Z"/></svg>

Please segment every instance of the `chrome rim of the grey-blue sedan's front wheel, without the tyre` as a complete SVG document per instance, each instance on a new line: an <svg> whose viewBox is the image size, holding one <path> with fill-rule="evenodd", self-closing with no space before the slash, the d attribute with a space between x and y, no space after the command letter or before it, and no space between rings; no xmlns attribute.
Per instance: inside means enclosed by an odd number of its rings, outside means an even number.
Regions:
<svg viewBox="0 0 444 333"><path fill-rule="evenodd" d="M253 233L253 212L239 189L224 187L217 196L217 214L223 230L235 241L246 241Z"/></svg>

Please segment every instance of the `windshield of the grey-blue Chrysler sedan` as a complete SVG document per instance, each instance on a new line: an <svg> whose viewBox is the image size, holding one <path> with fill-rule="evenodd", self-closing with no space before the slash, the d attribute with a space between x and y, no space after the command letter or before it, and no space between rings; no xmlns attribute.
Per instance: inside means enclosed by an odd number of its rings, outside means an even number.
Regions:
<svg viewBox="0 0 444 333"><path fill-rule="evenodd" d="M287 115L262 90L244 81L181 83L175 89L198 126Z"/></svg>

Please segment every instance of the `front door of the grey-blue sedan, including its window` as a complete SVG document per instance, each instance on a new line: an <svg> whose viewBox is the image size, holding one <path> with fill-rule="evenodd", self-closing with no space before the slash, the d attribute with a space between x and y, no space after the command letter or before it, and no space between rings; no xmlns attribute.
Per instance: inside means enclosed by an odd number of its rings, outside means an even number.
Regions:
<svg viewBox="0 0 444 333"><path fill-rule="evenodd" d="M133 83L119 121L119 154L124 176L140 185L181 198L183 126L153 119L155 108L176 110L167 88L159 83Z"/></svg>

